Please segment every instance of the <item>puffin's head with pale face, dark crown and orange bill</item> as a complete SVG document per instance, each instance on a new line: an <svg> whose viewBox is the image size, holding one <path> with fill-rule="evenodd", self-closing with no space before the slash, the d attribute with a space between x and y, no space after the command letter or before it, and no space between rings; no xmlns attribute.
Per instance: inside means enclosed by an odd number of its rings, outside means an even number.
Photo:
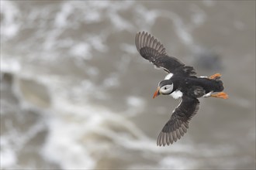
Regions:
<svg viewBox="0 0 256 170"><path fill-rule="evenodd" d="M162 80L160 83L158 83L157 90L154 92L154 97L157 97L160 94L170 94L174 91L174 85L171 80Z"/></svg>

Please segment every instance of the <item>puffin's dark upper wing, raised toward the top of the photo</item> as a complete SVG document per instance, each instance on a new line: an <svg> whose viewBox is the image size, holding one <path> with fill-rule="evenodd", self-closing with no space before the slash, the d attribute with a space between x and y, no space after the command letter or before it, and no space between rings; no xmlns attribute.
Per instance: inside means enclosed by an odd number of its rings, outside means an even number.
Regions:
<svg viewBox="0 0 256 170"><path fill-rule="evenodd" d="M163 68L168 73L195 74L192 66L185 66L184 63L175 57L168 56L164 46L154 36L147 32L138 32L135 37L135 44L138 52L144 59L150 61L157 67Z"/></svg>

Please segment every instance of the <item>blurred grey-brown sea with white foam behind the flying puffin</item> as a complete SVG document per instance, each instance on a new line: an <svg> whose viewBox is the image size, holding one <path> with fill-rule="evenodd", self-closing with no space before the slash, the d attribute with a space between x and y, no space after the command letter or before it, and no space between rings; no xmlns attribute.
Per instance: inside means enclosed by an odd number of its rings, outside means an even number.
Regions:
<svg viewBox="0 0 256 170"><path fill-rule="evenodd" d="M161 148L143 30L230 96ZM1 1L0 141L1 169L254 169L255 1Z"/></svg>

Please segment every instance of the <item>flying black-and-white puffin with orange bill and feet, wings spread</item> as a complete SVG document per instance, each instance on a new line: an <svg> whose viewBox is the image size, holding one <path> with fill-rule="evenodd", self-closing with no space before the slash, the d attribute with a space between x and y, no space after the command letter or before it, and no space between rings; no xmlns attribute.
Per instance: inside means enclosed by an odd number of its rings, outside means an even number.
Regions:
<svg viewBox="0 0 256 170"><path fill-rule="evenodd" d="M163 44L148 32L137 32L135 44L140 56L167 73L164 80L158 83L153 98L162 94L181 99L158 135L157 146L171 145L182 138L189 128L189 121L199 110L198 98L228 98L227 93L223 92L220 73L209 77L195 76L192 66L186 66L179 59L169 56Z"/></svg>

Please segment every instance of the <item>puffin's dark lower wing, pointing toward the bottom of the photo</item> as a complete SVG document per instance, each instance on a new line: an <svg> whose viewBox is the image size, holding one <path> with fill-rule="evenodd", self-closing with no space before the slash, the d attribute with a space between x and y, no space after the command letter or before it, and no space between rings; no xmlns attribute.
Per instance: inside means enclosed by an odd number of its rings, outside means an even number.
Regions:
<svg viewBox="0 0 256 170"><path fill-rule="evenodd" d="M181 103L158 135L157 145L170 145L180 139L187 132L189 121L197 110L199 110L199 100L183 96Z"/></svg>

